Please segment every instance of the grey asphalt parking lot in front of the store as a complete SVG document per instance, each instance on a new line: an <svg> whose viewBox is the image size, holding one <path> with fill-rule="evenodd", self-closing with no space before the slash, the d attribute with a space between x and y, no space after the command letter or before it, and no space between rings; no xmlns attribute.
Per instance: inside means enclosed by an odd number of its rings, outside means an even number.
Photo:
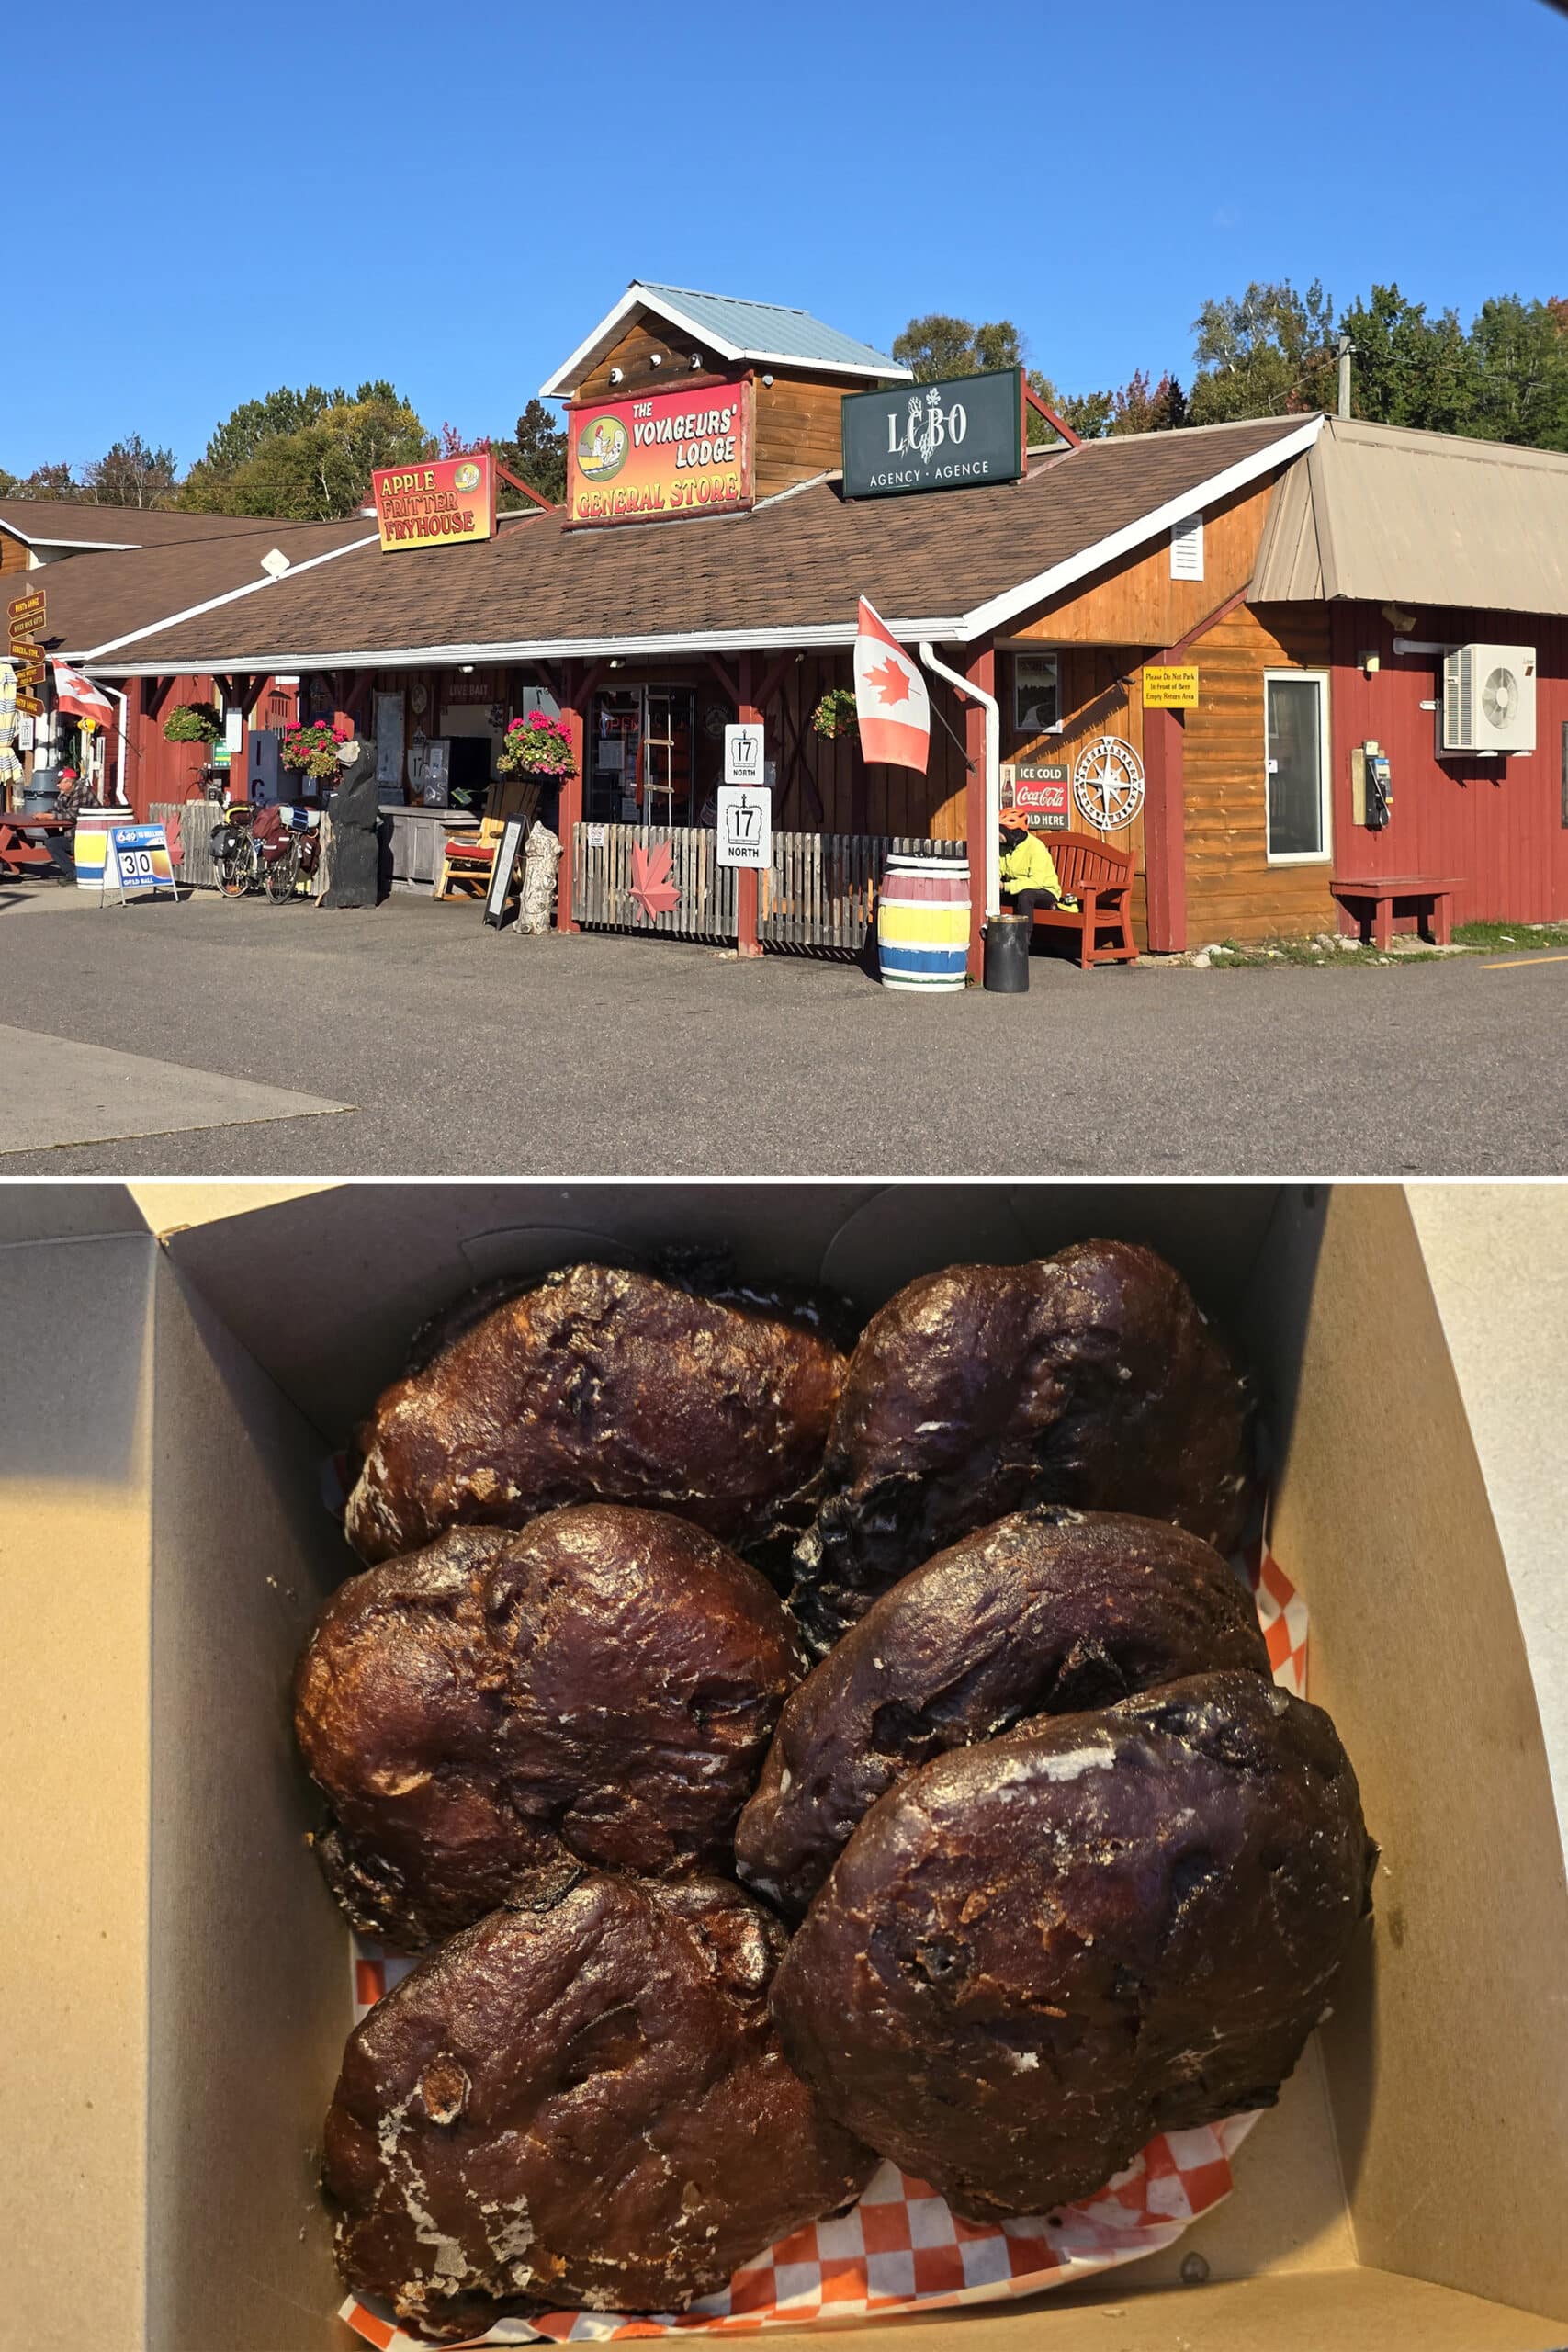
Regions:
<svg viewBox="0 0 1568 2352"><path fill-rule="evenodd" d="M205 894L99 908L42 884L0 889L0 969L2 1176L1568 1162L1568 957L1547 953L1091 974L1037 957L1027 997L926 1000L851 964L517 938L416 896L334 915ZM103 1049L101 1082L94 1056L47 1040Z"/></svg>

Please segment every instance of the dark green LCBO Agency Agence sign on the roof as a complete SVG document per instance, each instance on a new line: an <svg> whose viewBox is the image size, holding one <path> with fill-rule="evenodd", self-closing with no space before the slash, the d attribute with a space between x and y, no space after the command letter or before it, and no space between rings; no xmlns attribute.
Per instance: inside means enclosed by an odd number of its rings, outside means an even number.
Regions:
<svg viewBox="0 0 1568 2352"><path fill-rule="evenodd" d="M844 496L973 489L1023 473L1023 369L896 383L844 400Z"/></svg>

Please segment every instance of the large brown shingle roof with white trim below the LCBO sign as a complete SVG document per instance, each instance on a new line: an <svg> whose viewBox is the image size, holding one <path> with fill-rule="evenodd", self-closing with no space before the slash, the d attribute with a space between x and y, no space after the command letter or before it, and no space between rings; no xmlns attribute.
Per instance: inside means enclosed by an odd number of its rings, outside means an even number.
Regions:
<svg viewBox="0 0 1568 2352"><path fill-rule="evenodd" d="M947 621L938 635L952 637L961 616L1084 560L1117 532L1147 536L1159 527L1150 517L1199 503L1227 468L1267 473L1276 447L1300 447L1305 426L1316 419L1086 442L1034 463L1025 482L910 499L846 501L835 477L748 515L569 532L555 513L508 524L482 546L367 548L92 668L308 670L414 654L632 652L691 637L835 644L853 635L860 595L889 623Z"/></svg>

